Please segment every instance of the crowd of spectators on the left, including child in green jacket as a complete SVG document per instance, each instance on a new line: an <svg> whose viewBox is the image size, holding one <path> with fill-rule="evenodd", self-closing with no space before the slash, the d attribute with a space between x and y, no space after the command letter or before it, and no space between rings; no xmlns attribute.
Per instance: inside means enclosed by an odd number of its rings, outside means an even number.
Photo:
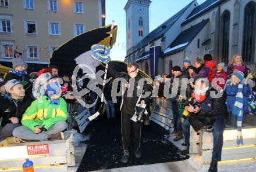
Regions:
<svg viewBox="0 0 256 172"><path fill-rule="evenodd" d="M78 103L70 92L81 90L83 82L72 85L72 76L61 78L54 65L29 75L27 67L13 58L12 69L0 78L0 142L8 137L11 142L63 139L67 103Z"/></svg>

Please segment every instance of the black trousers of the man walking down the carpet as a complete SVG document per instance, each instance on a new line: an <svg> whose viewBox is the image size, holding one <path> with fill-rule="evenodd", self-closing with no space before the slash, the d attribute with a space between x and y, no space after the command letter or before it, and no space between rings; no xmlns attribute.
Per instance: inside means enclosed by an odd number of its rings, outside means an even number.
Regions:
<svg viewBox="0 0 256 172"><path fill-rule="evenodd" d="M133 141L134 150L140 148L141 142L141 122L131 120L133 114L121 112L121 134L123 149L129 151L130 140Z"/></svg>

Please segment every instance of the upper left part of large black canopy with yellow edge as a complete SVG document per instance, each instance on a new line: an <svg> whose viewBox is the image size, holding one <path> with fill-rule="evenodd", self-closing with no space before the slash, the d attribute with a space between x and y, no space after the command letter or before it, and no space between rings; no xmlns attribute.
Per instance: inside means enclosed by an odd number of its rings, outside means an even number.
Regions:
<svg viewBox="0 0 256 172"><path fill-rule="evenodd" d="M115 25L111 47L116 41L117 30L118 26ZM81 63L90 65L92 68L97 67L99 62L90 56L91 46L94 44L109 46L110 34L111 25L106 25L75 36L54 50L49 65L56 65L59 68L59 74L62 76L71 76L76 65ZM86 71L83 71L83 73L86 73Z"/></svg>

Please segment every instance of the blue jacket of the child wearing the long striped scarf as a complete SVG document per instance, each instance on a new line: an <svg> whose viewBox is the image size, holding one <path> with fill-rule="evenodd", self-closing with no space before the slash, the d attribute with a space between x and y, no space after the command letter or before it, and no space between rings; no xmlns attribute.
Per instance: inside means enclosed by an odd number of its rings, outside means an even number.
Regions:
<svg viewBox="0 0 256 172"><path fill-rule="evenodd" d="M237 85L233 85L230 81L227 81L225 92L227 94L227 111L232 112L234 103L236 102L236 94L237 94ZM248 84L243 85L243 112L249 112L248 107L248 96L251 94L251 88Z"/></svg>

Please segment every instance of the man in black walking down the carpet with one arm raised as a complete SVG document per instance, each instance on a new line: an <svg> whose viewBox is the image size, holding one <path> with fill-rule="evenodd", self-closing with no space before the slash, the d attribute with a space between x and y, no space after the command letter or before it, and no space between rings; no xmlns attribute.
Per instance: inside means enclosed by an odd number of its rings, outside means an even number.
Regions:
<svg viewBox="0 0 256 172"><path fill-rule="evenodd" d="M109 62L108 74L113 77L113 79L121 78L126 82L122 82L122 103L120 105L121 110L121 133L122 133L122 143L123 143L123 156L121 162L127 163L129 161L129 147L130 140L133 140L134 145L134 155L136 158L140 158L140 141L141 141L141 122L134 122L131 117L135 114L135 107L137 104L147 104L150 100L151 89L150 85L140 82L143 79L140 74L138 74L138 65L136 63L127 64L127 73L122 74L116 71L115 66L112 62ZM115 80L114 80L115 82ZM133 83L130 83L133 82ZM130 87L133 87L132 89ZM133 90L129 92L128 90ZM141 91L141 95L138 95ZM150 93L148 97L141 98L144 94ZM113 97L112 97L113 98ZM130 133L133 133L131 135Z"/></svg>

